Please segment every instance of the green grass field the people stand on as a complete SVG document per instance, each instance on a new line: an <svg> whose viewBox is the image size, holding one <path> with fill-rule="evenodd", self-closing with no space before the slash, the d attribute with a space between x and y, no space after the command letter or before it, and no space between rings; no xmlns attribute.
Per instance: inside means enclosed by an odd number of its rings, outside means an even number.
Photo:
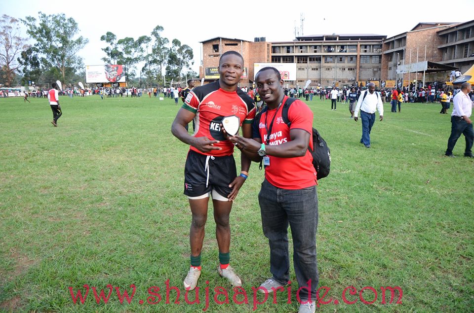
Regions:
<svg viewBox="0 0 474 313"><path fill-rule="evenodd" d="M189 305L182 281L189 269L191 213L183 192L188 146L170 133L179 108L147 97L100 100L61 97L55 128L46 100L0 99L0 311L2 312L252 312L252 287L270 277L257 193L264 173L254 163L231 213L231 264L244 280L248 304L217 274L212 211L202 252L199 304ZM474 162L443 156L449 115L439 104L403 104L375 122L371 149L347 104L330 110L314 100L315 127L331 148L331 174L319 182L317 234L320 286L330 288L317 312L473 312ZM452 106L449 112L452 111ZM237 162L239 151L236 152ZM291 248L290 248L291 249ZM291 267L292 268L292 267ZM296 312L292 298L270 296L255 312ZM166 283L181 290L166 301ZM206 280L209 281L206 284ZM74 294L90 290L84 304ZM116 289L96 303L108 284ZM147 300L158 286L161 301ZM214 301L214 288L230 304ZM346 287L354 286L356 295ZM370 290L373 287L377 299ZM381 287L399 286L401 304ZM206 308L205 288L209 287ZM286 290L286 289L285 289ZM225 301L218 294L217 300ZM195 299L192 292L189 301ZM140 304L143 300L144 304ZM243 301L243 295L237 296ZM336 301L337 300L337 301ZM258 294L255 301L264 302ZM339 302L335 304L335 302Z"/></svg>

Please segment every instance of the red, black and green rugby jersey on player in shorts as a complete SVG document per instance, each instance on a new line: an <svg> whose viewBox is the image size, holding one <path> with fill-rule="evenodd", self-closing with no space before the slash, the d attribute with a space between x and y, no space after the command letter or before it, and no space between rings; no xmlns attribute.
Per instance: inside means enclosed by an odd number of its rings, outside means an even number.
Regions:
<svg viewBox="0 0 474 313"><path fill-rule="evenodd" d="M208 139L220 140L214 146L222 150L212 150L210 153L202 153L195 147L190 149L200 154L225 156L234 152L235 145L224 138L220 124L224 116L236 115L243 123L250 124L255 117L255 103L243 91L229 92L219 87L219 82L199 86L191 90L182 106L196 113L194 137L207 137Z"/></svg>

